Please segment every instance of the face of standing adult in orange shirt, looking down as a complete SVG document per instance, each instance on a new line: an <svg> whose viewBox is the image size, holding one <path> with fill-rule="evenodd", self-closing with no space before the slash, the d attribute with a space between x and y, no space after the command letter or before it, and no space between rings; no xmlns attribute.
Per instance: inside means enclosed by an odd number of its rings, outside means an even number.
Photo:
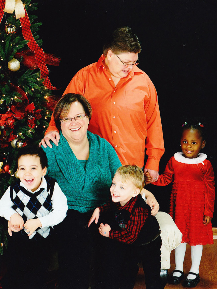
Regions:
<svg viewBox="0 0 217 289"><path fill-rule="evenodd" d="M120 59L117 57L117 55ZM105 58L105 64L107 65L107 68L112 76L117 78L127 77L128 73L133 69L133 65L125 66L124 64L136 63L138 60L138 53L123 52L118 53L117 55L109 50L107 57Z"/></svg>

